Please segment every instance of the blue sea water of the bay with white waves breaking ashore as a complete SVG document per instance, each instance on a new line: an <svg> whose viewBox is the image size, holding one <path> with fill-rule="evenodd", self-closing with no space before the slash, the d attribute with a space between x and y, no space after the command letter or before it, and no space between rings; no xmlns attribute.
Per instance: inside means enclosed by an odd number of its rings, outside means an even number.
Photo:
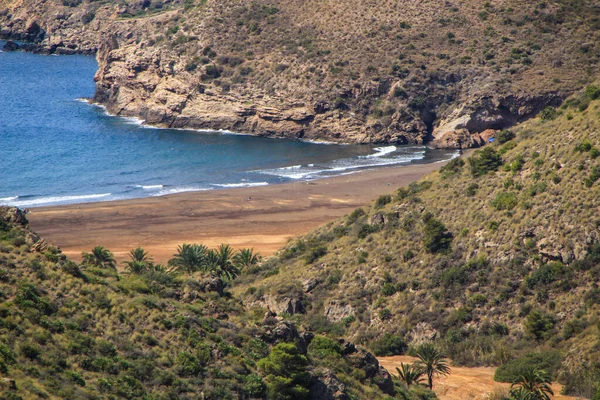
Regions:
<svg viewBox="0 0 600 400"><path fill-rule="evenodd" d="M89 56L0 52L0 204L270 185L454 155L146 127L82 100L94 94L96 68Z"/></svg>

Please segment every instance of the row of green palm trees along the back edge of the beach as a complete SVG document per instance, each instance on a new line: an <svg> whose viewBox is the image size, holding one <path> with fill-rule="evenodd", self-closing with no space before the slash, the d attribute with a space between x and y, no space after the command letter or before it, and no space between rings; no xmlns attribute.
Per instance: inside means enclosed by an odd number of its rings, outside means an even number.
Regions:
<svg viewBox="0 0 600 400"><path fill-rule="evenodd" d="M94 247L89 253L82 253L85 267L108 268L116 271L117 262L113 254L102 246ZM129 252L129 260L123 264L129 275L147 273L194 274L208 273L212 277L227 283L235 279L244 268L256 265L261 256L253 249L235 251L227 244L209 249L201 244L182 244L177 247L167 266L155 264L152 257L142 247Z"/></svg>

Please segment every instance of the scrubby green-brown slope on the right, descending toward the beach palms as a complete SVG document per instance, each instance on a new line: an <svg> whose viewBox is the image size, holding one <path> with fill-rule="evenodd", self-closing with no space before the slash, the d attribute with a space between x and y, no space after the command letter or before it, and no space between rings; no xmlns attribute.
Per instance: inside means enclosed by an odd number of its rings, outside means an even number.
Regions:
<svg viewBox="0 0 600 400"><path fill-rule="evenodd" d="M459 365L505 365L500 380L540 362L567 394L592 397L598 98L589 86L470 158L290 242L234 291L375 354L434 340Z"/></svg>

